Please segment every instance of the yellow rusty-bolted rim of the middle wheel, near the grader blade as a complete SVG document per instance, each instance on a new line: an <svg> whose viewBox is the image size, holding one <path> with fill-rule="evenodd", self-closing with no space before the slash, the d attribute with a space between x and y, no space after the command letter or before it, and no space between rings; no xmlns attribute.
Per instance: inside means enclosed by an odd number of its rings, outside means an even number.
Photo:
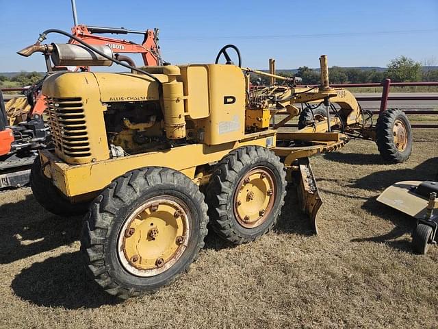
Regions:
<svg viewBox="0 0 438 329"><path fill-rule="evenodd" d="M251 169L237 183L233 210L244 228L260 226L271 215L276 196L274 173L266 167Z"/></svg>

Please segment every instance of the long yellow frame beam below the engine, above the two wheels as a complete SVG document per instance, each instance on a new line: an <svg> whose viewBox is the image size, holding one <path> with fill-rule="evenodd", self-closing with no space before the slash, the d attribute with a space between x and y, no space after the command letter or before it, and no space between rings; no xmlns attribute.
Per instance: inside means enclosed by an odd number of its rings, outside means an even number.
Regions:
<svg viewBox="0 0 438 329"><path fill-rule="evenodd" d="M127 171L146 166L168 167L181 171L193 179L196 167L218 161L231 150L244 145L274 147L275 132L267 130L247 134L241 141L221 145L192 144L81 165L69 165L47 150L40 151L40 158L43 167L48 163L44 174L52 178L53 184L64 195L74 197L91 191L100 191Z"/></svg>

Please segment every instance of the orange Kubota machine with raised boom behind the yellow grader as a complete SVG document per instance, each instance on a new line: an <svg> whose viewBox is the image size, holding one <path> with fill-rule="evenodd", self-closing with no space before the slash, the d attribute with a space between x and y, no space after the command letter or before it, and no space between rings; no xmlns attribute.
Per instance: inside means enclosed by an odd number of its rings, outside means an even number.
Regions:
<svg viewBox="0 0 438 329"><path fill-rule="evenodd" d="M120 40L99 36L99 34L140 34L144 36L141 44L129 40ZM127 62L130 66L135 63L128 56L121 53L139 53L142 56L144 66L162 65L162 58L158 45L158 29L148 29L146 31L132 31L129 29L113 27L96 27L87 25L77 25L72 28L72 35L68 43L80 45L80 40L94 46L107 46L112 49L116 60ZM44 47L38 46L35 47ZM57 49L61 50L61 49ZM27 53L20 53L29 56ZM50 64L50 55L46 56L47 75L37 84L26 90L27 102L21 106L29 108L27 119L16 125L10 125L8 120L8 109L0 90L0 188L19 187L29 182L30 168L34 162L37 149L43 149L50 144L50 131L44 125L42 114L46 108L45 100L40 90L45 78L53 71L67 70L65 66L57 66L53 70ZM76 54L71 54L76 56ZM79 66L77 71L88 71L88 67ZM18 111L20 112L20 111Z"/></svg>

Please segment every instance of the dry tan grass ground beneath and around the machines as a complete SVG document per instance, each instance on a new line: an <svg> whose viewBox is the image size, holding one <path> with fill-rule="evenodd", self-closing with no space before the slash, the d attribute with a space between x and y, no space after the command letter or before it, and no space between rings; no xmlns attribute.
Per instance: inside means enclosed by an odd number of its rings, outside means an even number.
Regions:
<svg viewBox="0 0 438 329"><path fill-rule="evenodd" d="M274 232L239 247L209 234L190 273L127 302L88 280L80 218L51 215L29 188L0 193L0 327L437 328L438 248L412 254L415 221L375 200L435 176L438 130L414 138L404 164L383 164L367 141L312 158L320 236L289 193Z"/></svg>

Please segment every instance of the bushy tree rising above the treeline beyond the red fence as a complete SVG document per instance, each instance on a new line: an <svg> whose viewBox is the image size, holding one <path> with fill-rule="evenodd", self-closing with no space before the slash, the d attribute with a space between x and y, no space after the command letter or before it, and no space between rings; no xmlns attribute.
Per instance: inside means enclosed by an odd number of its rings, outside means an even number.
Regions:
<svg viewBox="0 0 438 329"><path fill-rule="evenodd" d="M400 56L389 62L386 75L394 82L420 81L422 64L406 56Z"/></svg>

